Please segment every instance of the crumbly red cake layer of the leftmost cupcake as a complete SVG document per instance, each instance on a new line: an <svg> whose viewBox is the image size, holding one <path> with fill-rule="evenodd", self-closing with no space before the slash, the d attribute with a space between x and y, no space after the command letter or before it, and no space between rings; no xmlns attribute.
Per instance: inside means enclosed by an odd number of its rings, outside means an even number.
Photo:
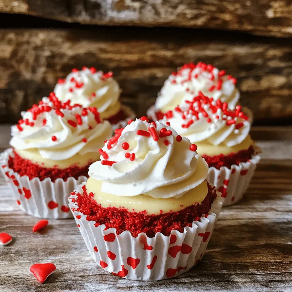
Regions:
<svg viewBox="0 0 292 292"><path fill-rule="evenodd" d="M14 157L10 157L8 161L9 168L13 169L20 176L27 175L29 180L33 178L39 178L40 181L45 178L51 178L52 182L55 182L57 178L62 178L66 181L70 176L78 179L79 176L85 175L88 177L88 167L93 161L80 168L78 166L72 166L64 169L60 168L45 168L38 164L34 164L29 159L23 159L20 155L13 150Z"/></svg>

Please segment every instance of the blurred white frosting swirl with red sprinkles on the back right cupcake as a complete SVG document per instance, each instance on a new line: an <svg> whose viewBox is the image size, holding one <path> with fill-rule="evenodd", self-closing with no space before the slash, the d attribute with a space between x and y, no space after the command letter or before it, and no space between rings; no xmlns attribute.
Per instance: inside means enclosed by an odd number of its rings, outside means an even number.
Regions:
<svg viewBox="0 0 292 292"><path fill-rule="evenodd" d="M185 64L164 82L155 109L166 112L177 105L183 106L185 100L191 100L199 91L214 100L228 102L230 109L234 109L240 97L235 83L235 78L226 76L224 70L219 71L212 65L201 62Z"/></svg>

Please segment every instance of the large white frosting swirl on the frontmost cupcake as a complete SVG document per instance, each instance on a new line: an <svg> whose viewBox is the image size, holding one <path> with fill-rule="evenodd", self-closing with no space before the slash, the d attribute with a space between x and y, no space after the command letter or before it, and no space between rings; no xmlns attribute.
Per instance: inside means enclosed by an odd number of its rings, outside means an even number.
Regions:
<svg viewBox="0 0 292 292"><path fill-rule="evenodd" d="M93 163L88 172L92 178L102 181L102 192L117 196L144 194L154 198L178 198L205 180L208 166L197 152L190 150L187 138L178 142L172 128L157 122L154 129L159 138L155 141L149 133L150 127L154 125L136 119L116 134L112 141L118 140L112 148L108 143L102 148L107 160L101 156L101 161ZM171 131L167 132L168 136L160 137L162 128ZM148 136L138 134L141 130ZM123 147L123 143L128 143L129 148ZM126 158L129 157L126 153L134 154L134 160ZM104 165L111 161L116 162Z"/></svg>

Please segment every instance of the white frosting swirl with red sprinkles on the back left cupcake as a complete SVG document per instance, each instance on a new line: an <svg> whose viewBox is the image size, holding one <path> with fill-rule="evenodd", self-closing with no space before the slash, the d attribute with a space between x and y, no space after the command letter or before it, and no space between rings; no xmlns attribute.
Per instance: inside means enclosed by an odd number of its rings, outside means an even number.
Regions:
<svg viewBox="0 0 292 292"><path fill-rule="evenodd" d="M65 80L60 79L54 93L61 101L71 100L84 107L94 106L102 114L117 106L121 89L112 78L112 72L104 74L102 71L96 72L93 67L84 67L82 71L73 69Z"/></svg>

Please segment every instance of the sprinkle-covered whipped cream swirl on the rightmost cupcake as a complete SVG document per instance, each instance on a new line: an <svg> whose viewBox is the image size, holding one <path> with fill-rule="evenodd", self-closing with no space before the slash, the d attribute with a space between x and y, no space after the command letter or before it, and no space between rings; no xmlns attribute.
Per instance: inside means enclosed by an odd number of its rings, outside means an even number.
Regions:
<svg viewBox="0 0 292 292"><path fill-rule="evenodd" d="M212 145L222 143L228 147L241 143L251 128L240 105L231 110L226 102L215 102L202 93L187 101L184 107L175 107L163 121L168 121L178 134L192 143L206 140Z"/></svg>

